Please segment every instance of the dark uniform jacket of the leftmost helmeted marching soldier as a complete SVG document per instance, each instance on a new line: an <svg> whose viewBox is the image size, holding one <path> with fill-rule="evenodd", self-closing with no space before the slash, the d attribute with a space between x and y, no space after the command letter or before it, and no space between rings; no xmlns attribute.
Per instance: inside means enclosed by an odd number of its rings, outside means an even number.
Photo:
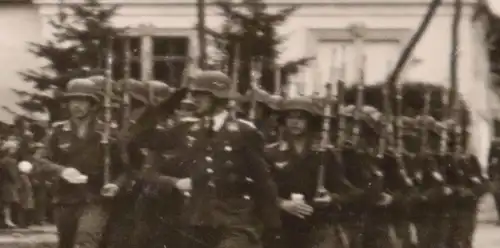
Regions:
<svg viewBox="0 0 500 248"><path fill-rule="evenodd" d="M43 151L37 152L35 159L41 170L60 174L65 168L75 168L88 176L86 184L70 184L57 178L54 185L54 201L56 203L83 203L99 199L104 184L105 146L102 144L104 124L98 121L89 123L85 137L78 137L75 125L71 121L55 123L46 138ZM116 142L111 144L111 179L122 186L127 174L119 162L119 151ZM132 149L129 151L134 152Z"/></svg>

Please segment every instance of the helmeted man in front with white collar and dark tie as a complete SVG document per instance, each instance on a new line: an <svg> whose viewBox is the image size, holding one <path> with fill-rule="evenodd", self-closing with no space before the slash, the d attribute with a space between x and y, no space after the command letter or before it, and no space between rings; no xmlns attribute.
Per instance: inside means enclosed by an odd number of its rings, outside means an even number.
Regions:
<svg viewBox="0 0 500 248"><path fill-rule="evenodd" d="M196 75L189 89L199 119L152 142L154 158L172 155L168 173L157 180L183 197L184 247L261 247L262 227L280 224L262 136L235 118L234 106L227 110L233 84L218 71Z"/></svg>

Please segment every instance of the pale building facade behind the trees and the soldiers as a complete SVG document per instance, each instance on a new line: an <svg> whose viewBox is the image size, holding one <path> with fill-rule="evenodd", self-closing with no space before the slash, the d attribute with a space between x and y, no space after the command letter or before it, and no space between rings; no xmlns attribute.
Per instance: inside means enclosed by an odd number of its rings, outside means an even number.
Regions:
<svg viewBox="0 0 500 248"><path fill-rule="evenodd" d="M3 0L5 1L5 0ZM11 0L16 2L14 0ZM0 52L9 51L10 58L0 58L8 64L2 80L20 81L17 71L40 65L27 53L26 42L50 39L48 24L61 9L61 3L83 0L33 0L0 7L0 28L11 39L0 43ZM238 3L238 0L233 0ZM223 22L218 10L207 0L206 24L217 30ZM286 35L281 61L315 57L316 61L297 76L297 87L312 93L324 87L332 64L345 61L345 78L354 77L353 36L350 27L366 29L366 81L382 81L394 65L401 49L419 26L430 0L266 0L270 11L290 5L301 7L283 25ZM473 112L474 150L485 158L491 136L492 94L489 88L487 46L484 22L477 14L477 0L464 0L460 24L459 85L460 92ZM481 2L481 1L479 1ZM128 27L132 77L176 82L182 73L186 57L196 57L196 0L102 0L104 4L119 4L113 22ZM429 29L413 54L405 79L449 84L449 54L453 0L443 0ZM17 6L17 7L16 7ZM14 9L18 13L12 12ZM5 15L4 15L5 14ZM3 19L3 20L2 20ZM5 22L6 20L7 22ZM19 32L20 31L20 32ZM1 56L0 56L1 57ZM14 62L11 62L14 61ZM119 66L123 67L123 66ZM120 74L120 68L114 73ZM483 164L485 164L485 160Z"/></svg>

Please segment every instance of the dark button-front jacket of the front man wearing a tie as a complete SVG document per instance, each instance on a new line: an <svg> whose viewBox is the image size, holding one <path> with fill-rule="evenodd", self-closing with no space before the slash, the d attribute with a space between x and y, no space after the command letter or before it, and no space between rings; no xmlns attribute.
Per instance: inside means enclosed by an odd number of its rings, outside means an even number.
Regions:
<svg viewBox="0 0 500 248"><path fill-rule="evenodd" d="M188 224L241 227L260 222L279 227L276 187L260 133L241 119L225 118L216 130L206 123L183 122L151 147L157 158L168 160L169 176L192 180L183 208Z"/></svg>

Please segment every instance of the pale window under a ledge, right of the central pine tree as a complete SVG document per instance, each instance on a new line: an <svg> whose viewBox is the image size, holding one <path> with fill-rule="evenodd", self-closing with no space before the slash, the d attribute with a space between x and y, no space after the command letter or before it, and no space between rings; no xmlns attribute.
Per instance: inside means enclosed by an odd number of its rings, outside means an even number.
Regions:
<svg viewBox="0 0 500 248"><path fill-rule="evenodd" d="M349 29L312 29L312 39L308 44L308 54L316 54L317 61L306 73L307 78L314 79L309 88L323 89L329 81L332 63L336 69L344 69L344 78L348 83L355 81L356 68L355 49ZM377 83L385 79L390 68L395 64L404 42L411 34L406 29L367 29L365 33L364 52L365 81ZM342 73L338 71L338 73ZM319 74L319 76L318 76ZM319 84L319 85L318 85Z"/></svg>

